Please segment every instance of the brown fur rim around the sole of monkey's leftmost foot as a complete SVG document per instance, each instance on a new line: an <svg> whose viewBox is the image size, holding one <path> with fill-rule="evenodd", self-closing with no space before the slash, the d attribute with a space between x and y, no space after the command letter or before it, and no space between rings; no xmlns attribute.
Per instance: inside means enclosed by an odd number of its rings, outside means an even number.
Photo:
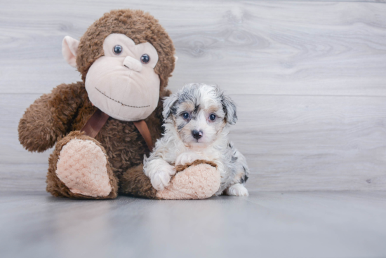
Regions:
<svg viewBox="0 0 386 258"><path fill-rule="evenodd" d="M117 177L114 176L114 173L112 172L112 169L110 168L109 161L107 160L107 174L109 175L110 179L110 185L112 186L112 191L107 197L91 197L91 196L84 196L82 194L74 194L72 191L69 191L68 187L63 184L58 176L56 175L56 164L58 163L59 154L62 150L63 146L67 144L72 139L81 139L81 140L91 140L95 142L95 144L102 149L103 153L106 154L105 148L102 147L102 145L96 141L95 139L88 137L87 135L84 135L84 133L81 133L79 131L74 131L69 133L66 137L64 137L62 140L60 140L55 147L55 150L51 154L49 158L49 167L48 167L48 174L47 174L47 191L51 193L53 196L65 196L65 197L71 197L71 198L81 198L81 199L113 199L117 198L118 195L118 181Z"/></svg>

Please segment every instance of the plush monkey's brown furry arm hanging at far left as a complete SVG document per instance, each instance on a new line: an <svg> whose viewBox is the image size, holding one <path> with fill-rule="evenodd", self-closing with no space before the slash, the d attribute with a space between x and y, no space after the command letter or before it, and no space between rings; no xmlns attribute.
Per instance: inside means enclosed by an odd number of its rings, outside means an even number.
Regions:
<svg viewBox="0 0 386 258"><path fill-rule="evenodd" d="M19 122L19 141L28 151L42 152L67 133L76 111L84 102L84 83L60 84L35 100Z"/></svg>

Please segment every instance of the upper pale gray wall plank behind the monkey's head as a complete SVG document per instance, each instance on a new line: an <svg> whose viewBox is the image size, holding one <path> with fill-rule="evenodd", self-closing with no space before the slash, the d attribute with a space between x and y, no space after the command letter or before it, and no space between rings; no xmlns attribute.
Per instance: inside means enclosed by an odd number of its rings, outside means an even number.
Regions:
<svg viewBox="0 0 386 258"><path fill-rule="evenodd" d="M173 90L206 81L229 93L386 96L385 4L74 3L8 1L2 6L0 84L8 87L1 92L47 93L60 83L79 80L62 59L63 37L79 39L102 13L129 7L149 11L171 34L180 57Z"/></svg>

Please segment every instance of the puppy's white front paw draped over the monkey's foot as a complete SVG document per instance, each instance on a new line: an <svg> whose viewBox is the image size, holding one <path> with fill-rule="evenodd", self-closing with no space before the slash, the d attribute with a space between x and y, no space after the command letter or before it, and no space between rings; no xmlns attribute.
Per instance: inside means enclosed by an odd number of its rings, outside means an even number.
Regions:
<svg viewBox="0 0 386 258"><path fill-rule="evenodd" d="M175 174L175 167L162 158L145 161L143 170L156 190L165 189L171 181L171 176Z"/></svg>

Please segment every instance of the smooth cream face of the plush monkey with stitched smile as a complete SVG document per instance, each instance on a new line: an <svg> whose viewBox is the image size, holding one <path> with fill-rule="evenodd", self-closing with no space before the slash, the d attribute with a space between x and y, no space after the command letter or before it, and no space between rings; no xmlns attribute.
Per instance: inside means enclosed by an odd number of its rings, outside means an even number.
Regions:
<svg viewBox="0 0 386 258"><path fill-rule="evenodd" d="M100 110L122 121L147 118L159 101L158 62L152 44L134 41L124 34L110 34L103 41L105 55L86 74L86 90Z"/></svg>

